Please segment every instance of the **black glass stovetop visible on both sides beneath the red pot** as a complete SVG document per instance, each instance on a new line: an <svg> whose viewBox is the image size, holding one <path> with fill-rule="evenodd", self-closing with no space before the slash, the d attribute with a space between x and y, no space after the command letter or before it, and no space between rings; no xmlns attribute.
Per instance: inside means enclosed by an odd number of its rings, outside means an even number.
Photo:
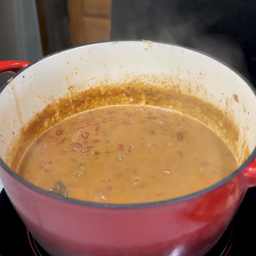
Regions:
<svg viewBox="0 0 256 256"><path fill-rule="evenodd" d="M250 188L229 227L207 256L256 255L255 198L256 188ZM0 193L0 256L14 255L48 256L28 232L3 190Z"/></svg>

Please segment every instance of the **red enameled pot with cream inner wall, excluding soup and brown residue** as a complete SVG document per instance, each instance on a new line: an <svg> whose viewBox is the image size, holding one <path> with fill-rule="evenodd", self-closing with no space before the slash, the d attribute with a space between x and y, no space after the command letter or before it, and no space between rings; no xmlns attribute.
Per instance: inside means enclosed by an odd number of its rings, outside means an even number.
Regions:
<svg viewBox="0 0 256 256"><path fill-rule="evenodd" d="M0 176L20 218L50 255L203 255L227 228L247 188L256 185L255 90L235 70L202 52L146 41L107 42L54 53L34 64L0 62L0 72L19 69L0 90ZM37 188L5 164L13 133L67 93L68 86L162 73L192 87L203 84L216 99L238 95L239 104L233 100L229 107L237 123L248 126L250 156L224 180L164 202L98 204ZM224 101L214 103L224 108Z"/></svg>

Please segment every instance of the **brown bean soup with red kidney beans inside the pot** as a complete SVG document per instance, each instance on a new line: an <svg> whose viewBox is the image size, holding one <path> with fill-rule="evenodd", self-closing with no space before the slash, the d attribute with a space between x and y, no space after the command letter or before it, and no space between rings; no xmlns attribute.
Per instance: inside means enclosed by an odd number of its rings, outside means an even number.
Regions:
<svg viewBox="0 0 256 256"><path fill-rule="evenodd" d="M51 127L28 149L18 173L71 198L128 204L187 195L236 168L228 146L201 122L126 105L86 111Z"/></svg>

